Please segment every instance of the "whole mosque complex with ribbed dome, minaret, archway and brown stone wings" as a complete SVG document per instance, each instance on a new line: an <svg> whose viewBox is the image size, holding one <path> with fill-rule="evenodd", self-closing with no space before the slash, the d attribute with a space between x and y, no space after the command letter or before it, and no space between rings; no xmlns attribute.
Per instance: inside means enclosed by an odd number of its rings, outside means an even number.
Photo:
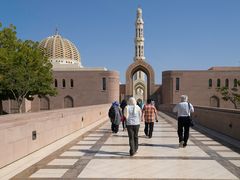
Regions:
<svg viewBox="0 0 240 180"><path fill-rule="evenodd" d="M43 39L39 48L53 65L54 97L25 100L23 112L107 104L134 96L145 102L152 98L156 106L176 104L186 94L198 106L234 108L222 100L218 87L238 88L240 67L211 67L208 70L174 70L162 72L162 84L155 84L155 72L144 56L144 21L142 9L137 9L135 22L135 55L126 70L126 84L119 84L119 74L104 67L84 67L77 47L59 33ZM240 93L240 90L238 90ZM4 111L15 113L16 102L4 101Z"/></svg>

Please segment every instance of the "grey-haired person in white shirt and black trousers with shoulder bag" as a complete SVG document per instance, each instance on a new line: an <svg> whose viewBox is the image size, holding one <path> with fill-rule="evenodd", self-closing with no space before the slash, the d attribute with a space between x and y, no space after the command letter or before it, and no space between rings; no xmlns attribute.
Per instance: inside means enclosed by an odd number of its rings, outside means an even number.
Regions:
<svg viewBox="0 0 240 180"><path fill-rule="evenodd" d="M194 112L193 105L188 102L187 95L181 96L181 102L173 108L173 112L176 112L178 117L179 147L186 147L191 123L190 115Z"/></svg>

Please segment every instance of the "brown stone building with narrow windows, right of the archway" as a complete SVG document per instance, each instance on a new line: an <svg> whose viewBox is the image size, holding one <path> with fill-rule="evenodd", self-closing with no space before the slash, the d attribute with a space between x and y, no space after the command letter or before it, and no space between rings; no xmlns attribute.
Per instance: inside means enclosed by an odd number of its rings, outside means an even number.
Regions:
<svg viewBox="0 0 240 180"><path fill-rule="evenodd" d="M234 108L217 92L217 88L236 87L240 80L240 67L212 67L199 71L164 71L162 73L162 103L176 104L186 94L194 105Z"/></svg>

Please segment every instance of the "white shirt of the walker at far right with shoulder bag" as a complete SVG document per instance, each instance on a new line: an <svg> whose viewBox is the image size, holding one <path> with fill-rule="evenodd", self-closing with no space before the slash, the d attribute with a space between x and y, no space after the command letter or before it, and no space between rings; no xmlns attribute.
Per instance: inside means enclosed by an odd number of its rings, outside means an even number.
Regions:
<svg viewBox="0 0 240 180"><path fill-rule="evenodd" d="M173 112L176 112L178 117L190 116L191 112L194 112L194 108L191 103L189 103L189 105L190 105L190 109L188 106L188 102L180 102L173 108Z"/></svg>

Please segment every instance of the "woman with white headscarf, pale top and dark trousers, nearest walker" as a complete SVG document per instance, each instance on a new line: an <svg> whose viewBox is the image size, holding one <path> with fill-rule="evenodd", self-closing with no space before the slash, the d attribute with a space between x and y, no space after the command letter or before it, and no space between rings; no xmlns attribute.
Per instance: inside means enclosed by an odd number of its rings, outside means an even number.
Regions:
<svg viewBox="0 0 240 180"><path fill-rule="evenodd" d="M133 156L138 150L138 131L140 127L141 108L137 105L136 99L131 97L128 105L124 109L126 125L129 138L129 154Z"/></svg>

